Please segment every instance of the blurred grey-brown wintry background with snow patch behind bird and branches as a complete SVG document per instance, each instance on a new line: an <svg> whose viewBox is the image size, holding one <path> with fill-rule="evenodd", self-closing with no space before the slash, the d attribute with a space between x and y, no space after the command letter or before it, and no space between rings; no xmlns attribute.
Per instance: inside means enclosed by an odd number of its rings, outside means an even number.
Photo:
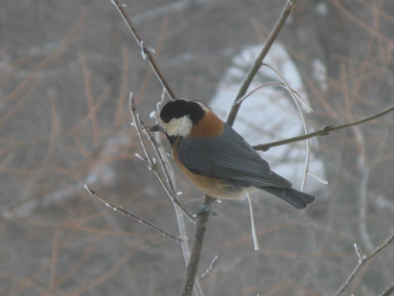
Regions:
<svg viewBox="0 0 394 296"><path fill-rule="evenodd" d="M175 94L225 118L285 2L122 3ZM266 62L309 102L310 131L394 104L393 15L391 0L297 2ZM278 80L265 71L250 90ZM135 157L142 149L130 125L130 91L141 118L154 124L149 114L162 86L110 0L2 1L1 295L179 295L180 246L83 188L178 233L170 199ZM283 89L264 88L250 104L236 123L244 123L237 130L251 144L302 134ZM253 250L246 201L212 207L218 216L210 219L199 274L215 256L218 262L201 280L206 295L333 295L358 263L354 244L370 254L394 234L393 113L312 142L310 170L328 185L308 175L305 190L318 200L304 212L257 194L260 251ZM304 143L263 156L300 185ZM175 175L195 213L201 193L176 168ZM394 281L393 258L389 245L344 295L384 292Z"/></svg>

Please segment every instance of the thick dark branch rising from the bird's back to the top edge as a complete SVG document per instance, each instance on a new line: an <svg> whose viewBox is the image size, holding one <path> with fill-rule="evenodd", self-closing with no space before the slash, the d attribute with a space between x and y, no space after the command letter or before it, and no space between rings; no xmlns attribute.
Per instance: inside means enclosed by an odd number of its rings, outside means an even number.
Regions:
<svg viewBox="0 0 394 296"><path fill-rule="evenodd" d="M287 1L285 7L282 9L282 13L279 16L278 21L276 22L272 31L269 33L269 36L265 41L262 51L260 52L259 56L256 58L255 62L253 63L253 66L249 70L249 73L246 75L244 81L242 82L241 88L239 89L238 94L235 97L234 104L232 105L232 108L226 120L230 126L233 125L238 110L241 107L241 102L238 102L238 100L242 98L245 95L246 91L248 90L249 85L251 84L253 78L255 77L255 75L257 74L263 63L264 57L268 53L268 50L271 48L271 45L273 44L276 37L278 36L279 31L282 29L283 25L285 24L295 4L296 4L296 0Z"/></svg>

